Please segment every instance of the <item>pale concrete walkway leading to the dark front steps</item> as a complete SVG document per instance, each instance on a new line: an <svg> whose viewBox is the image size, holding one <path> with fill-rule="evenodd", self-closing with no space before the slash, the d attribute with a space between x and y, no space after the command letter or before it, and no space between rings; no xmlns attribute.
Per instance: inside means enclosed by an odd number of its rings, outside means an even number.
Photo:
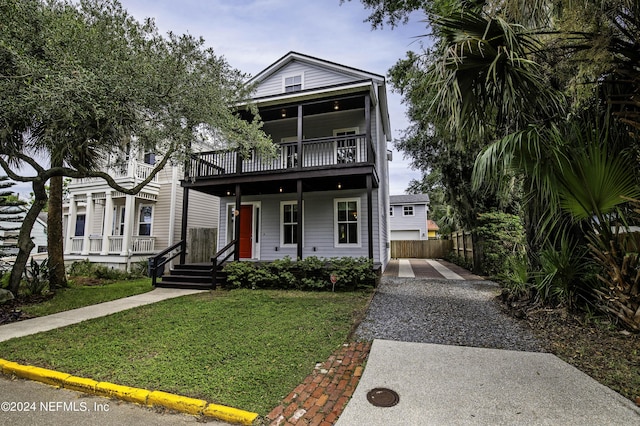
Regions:
<svg viewBox="0 0 640 426"><path fill-rule="evenodd" d="M54 328L76 324L88 319L104 317L106 315L111 315L137 306L148 305L161 300L173 299L174 297L186 296L188 294L199 292L202 292L202 290L156 288L148 293L112 300L111 302L104 302L44 317L1 325L0 342L13 339L14 337L28 336L42 331L53 330Z"/></svg>

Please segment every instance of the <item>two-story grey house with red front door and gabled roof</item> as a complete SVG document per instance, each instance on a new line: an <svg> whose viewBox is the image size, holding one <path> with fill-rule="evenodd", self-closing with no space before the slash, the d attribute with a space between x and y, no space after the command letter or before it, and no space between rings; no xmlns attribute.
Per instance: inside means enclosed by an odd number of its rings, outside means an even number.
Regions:
<svg viewBox="0 0 640 426"><path fill-rule="evenodd" d="M250 83L276 156L201 152L182 181L190 193L220 197L218 247L236 259L349 256L384 267L391 140L384 77L290 52ZM197 208L191 198L186 208Z"/></svg>

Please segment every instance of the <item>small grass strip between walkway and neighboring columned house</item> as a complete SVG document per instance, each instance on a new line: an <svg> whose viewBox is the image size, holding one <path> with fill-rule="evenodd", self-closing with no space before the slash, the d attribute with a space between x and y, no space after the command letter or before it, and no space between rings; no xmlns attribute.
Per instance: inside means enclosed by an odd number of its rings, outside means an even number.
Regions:
<svg viewBox="0 0 640 426"><path fill-rule="evenodd" d="M56 291L51 299L37 304L23 305L21 309L30 316L40 317L146 293L152 289L149 278L92 286L71 284L69 288Z"/></svg>

